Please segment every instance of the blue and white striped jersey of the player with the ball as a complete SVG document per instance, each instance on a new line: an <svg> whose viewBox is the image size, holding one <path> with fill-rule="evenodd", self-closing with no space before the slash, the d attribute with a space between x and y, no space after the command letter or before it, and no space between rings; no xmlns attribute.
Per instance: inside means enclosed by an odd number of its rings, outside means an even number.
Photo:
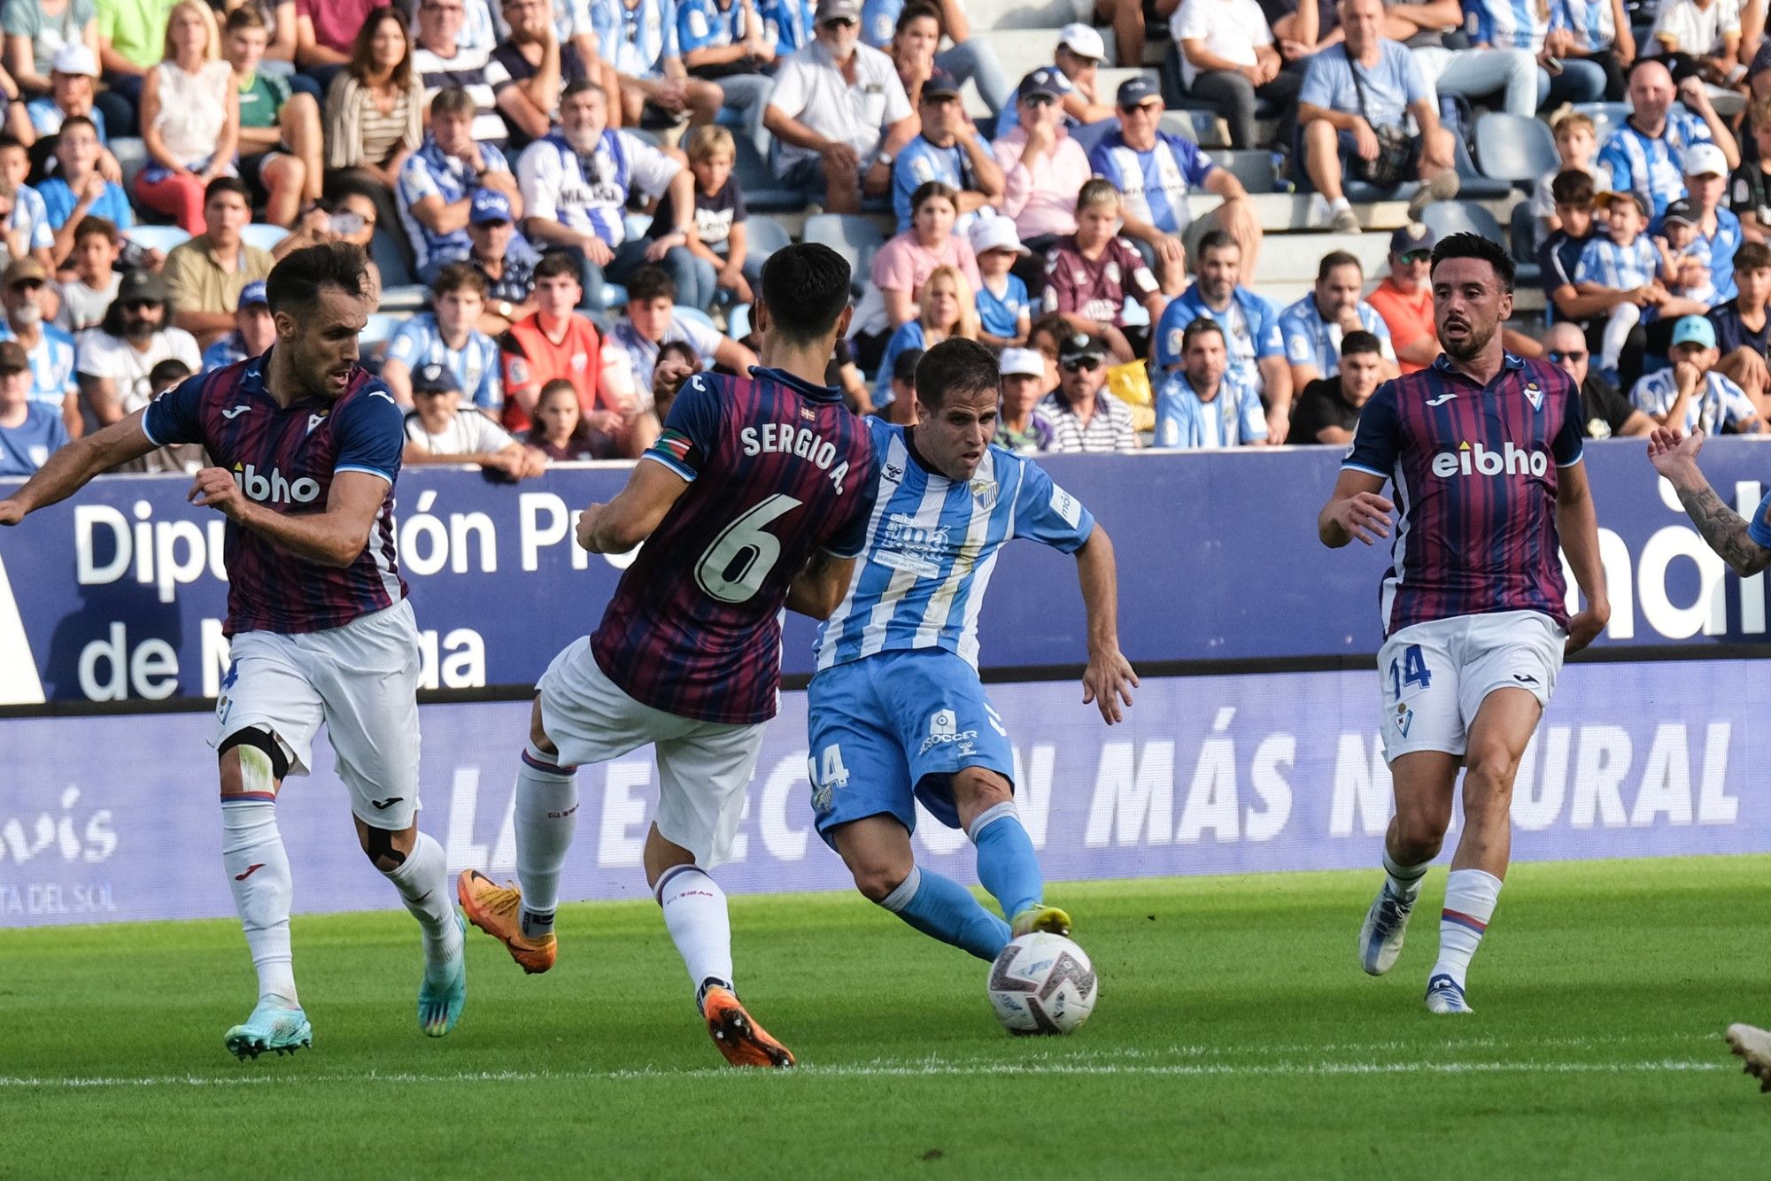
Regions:
<svg viewBox="0 0 1771 1181"><path fill-rule="evenodd" d="M978 668L978 611L1002 544L1073 554L1094 517L1038 464L990 446L969 482L930 471L903 427L870 418L882 455L868 544L843 604L818 627L824 671L880 652L940 648Z"/></svg>

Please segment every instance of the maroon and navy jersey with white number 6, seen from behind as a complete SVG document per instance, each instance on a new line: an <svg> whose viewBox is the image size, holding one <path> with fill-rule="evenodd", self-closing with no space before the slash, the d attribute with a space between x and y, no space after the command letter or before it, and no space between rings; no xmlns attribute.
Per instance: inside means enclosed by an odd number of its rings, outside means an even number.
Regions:
<svg viewBox="0 0 1771 1181"><path fill-rule="evenodd" d="M878 485L838 390L772 368L696 374L639 462L689 482L622 574L590 650L627 696L708 722L776 714L781 607L818 549L866 545Z"/></svg>

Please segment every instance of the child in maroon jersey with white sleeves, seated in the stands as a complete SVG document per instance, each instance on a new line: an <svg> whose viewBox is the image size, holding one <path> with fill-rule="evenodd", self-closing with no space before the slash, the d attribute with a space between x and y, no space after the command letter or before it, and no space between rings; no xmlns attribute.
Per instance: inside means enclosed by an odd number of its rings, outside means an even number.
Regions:
<svg viewBox="0 0 1771 1181"><path fill-rule="evenodd" d="M1089 179L1077 193L1077 232L1059 239L1045 257L1041 303L1125 363L1146 352L1149 324L1162 317L1164 299L1156 276L1118 228L1119 189L1110 181ZM1126 320L1128 297L1144 305L1149 315L1144 326Z"/></svg>

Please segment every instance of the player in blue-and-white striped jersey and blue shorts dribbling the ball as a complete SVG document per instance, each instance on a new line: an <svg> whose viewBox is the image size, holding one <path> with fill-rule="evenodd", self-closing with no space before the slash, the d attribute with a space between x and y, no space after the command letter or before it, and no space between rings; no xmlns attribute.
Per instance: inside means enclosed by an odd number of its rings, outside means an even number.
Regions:
<svg viewBox="0 0 1771 1181"><path fill-rule="evenodd" d="M978 613L1004 542L1027 536L1077 556L1089 634L1082 701L1114 724L1137 685L1119 652L1112 542L1036 464L990 444L999 386L995 354L944 340L916 368L919 423L868 420L878 494L855 577L818 630L808 722L818 834L855 887L983 960L1011 935L1070 931L1070 915L1043 901L1015 813L1008 731L978 680ZM965 829L1008 922L917 868L917 802Z"/></svg>

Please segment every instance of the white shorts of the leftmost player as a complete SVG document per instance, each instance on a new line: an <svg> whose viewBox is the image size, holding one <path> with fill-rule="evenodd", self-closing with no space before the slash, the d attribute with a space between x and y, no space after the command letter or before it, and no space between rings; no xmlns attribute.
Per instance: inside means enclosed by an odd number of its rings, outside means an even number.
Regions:
<svg viewBox="0 0 1771 1181"><path fill-rule="evenodd" d="M324 632L241 632L216 701L209 745L264 726L305 776L326 722L351 811L402 830L418 814L418 625L400 600Z"/></svg>

